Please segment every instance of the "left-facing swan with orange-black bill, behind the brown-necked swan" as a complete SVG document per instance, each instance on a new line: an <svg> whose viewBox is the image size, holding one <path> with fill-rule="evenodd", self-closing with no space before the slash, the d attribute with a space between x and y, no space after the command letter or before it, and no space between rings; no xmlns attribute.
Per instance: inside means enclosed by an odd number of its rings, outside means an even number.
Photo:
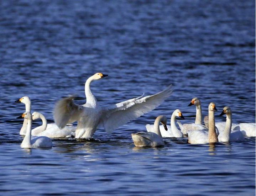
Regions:
<svg viewBox="0 0 256 196"><path fill-rule="evenodd" d="M202 125L202 107L201 101L194 97L188 106L195 105L197 109L197 113L195 116L195 123L184 123L180 126L181 123L178 123L181 132L186 135L188 134L188 130L204 130L206 127Z"/></svg>

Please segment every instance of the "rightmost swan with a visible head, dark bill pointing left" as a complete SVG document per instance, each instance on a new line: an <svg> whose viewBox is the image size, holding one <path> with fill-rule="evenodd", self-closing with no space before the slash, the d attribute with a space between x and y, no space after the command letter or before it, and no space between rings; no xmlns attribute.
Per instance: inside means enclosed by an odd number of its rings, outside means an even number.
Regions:
<svg viewBox="0 0 256 196"><path fill-rule="evenodd" d="M244 141L244 136L240 130L231 130L232 126L232 111L229 106L225 106L220 116L226 115L226 125L224 131L221 131L218 140L219 142L238 142Z"/></svg>

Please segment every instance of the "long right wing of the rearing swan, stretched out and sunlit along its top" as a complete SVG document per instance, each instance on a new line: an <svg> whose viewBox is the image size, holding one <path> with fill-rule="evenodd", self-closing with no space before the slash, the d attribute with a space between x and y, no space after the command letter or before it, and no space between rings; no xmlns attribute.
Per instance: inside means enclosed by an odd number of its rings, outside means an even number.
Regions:
<svg viewBox="0 0 256 196"><path fill-rule="evenodd" d="M172 85L169 85L166 89L155 95L145 97L142 97L142 95L109 107L103 107L101 123L103 124L106 132L112 133L116 128L125 125L127 122L134 120L151 110L154 110L162 104L164 100L171 96L172 91Z"/></svg>

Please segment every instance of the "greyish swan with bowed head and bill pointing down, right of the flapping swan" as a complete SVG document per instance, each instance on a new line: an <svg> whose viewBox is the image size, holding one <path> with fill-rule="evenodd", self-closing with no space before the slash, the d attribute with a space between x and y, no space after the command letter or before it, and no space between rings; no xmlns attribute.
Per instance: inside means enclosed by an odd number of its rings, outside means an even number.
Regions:
<svg viewBox="0 0 256 196"><path fill-rule="evenodd" d="M137 147L156 147L164 145L163 138L160 132L159 123L162 123L164 129L167 131L166 117L158 116L154 123L154 132L137 132L132 133L132 140Z"/></svg>

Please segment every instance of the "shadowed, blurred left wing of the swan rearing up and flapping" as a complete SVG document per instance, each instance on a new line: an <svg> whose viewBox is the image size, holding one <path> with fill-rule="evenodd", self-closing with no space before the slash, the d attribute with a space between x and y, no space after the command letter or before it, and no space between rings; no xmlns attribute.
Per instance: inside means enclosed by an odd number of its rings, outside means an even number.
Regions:
<svg viewBox="0 0 256 196"><path fill-rule="evenodd" d="M67 123L73 123L79 119L83 106L74 102L74 96L59 100L54 108L53 118L56 125L62 129Z"/></svg>

